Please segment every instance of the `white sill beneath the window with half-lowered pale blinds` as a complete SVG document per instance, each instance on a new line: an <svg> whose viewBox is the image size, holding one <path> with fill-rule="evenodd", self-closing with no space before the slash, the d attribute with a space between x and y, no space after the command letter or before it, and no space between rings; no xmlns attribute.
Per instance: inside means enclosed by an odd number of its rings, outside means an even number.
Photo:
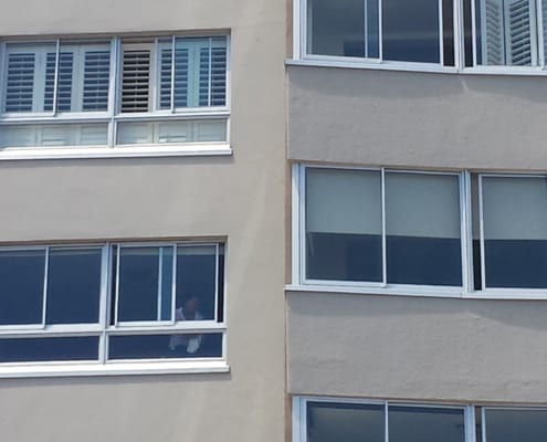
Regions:
<svg viewBox="0 0 547 442"><path fill-rule="evenodd" d="M328 284L287 284L285 292L297 293L330 293L377 296L414 296L414 297L446 297L462 299L507 299L507 301L540 301L547 299L544 290L488 288L480 292L466 292L461 287L435 286L349 286Z"/></svg>

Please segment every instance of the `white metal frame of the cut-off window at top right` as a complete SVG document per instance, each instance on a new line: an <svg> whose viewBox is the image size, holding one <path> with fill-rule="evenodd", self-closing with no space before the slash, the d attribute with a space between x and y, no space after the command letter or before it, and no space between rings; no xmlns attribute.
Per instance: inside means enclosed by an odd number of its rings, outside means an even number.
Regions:
<svg viewBox="0 0 547 442"><path fill-rule="evenodd" d="M293 55L286 61L287 65L304 65L318 67L349 67L349 69L371 69L371 70L388 70L388 71L410 71L410 72L433 72L445 74L487 74L487 75L547 75L547 61L545 60L545 49L543 33L540 30L544 27L541 11L543 2L546 0L530 0L535 3L536 17L533 21L533 44L537 45L536 53L538 56L536 66L488 66L481 65L477 62L476 50L476 11L475 0L453 0L453 48L454 48L454 66L443 65L443 17L442 17L442 0L439 0L439 29L440 29L440 63L420 63L420 62L398 62L383 61L381 59L381 2L379 1L379 59L360 59L350 56L335 55L315 55L307 51L308 35L308 19L307 3L313 0L296 0L293 2ZM472 9L472 52L473 66L465 66L464 51L464 1L471 2ZM545 24L547 25L547 24Z"/></svg>

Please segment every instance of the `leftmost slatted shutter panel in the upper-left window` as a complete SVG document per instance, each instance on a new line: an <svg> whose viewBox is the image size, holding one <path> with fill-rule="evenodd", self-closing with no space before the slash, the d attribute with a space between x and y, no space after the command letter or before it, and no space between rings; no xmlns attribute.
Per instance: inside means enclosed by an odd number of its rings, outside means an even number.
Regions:
<svg viewBox="0 0 547 442"><path fill-rule="evenodd" d="M31 112L34 94L34 53L8 55L6 81L6 112Z"/></svg>

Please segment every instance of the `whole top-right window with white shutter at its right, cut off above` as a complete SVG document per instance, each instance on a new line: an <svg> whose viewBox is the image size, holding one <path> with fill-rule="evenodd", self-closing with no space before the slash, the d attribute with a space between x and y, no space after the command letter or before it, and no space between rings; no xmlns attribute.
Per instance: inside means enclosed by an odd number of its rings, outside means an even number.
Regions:
<svg viewBox="0 0 547 442"><path fill-rule="evenodd" d="M545 0L301 1L304 57L457 69L545 65Z"/></svg>

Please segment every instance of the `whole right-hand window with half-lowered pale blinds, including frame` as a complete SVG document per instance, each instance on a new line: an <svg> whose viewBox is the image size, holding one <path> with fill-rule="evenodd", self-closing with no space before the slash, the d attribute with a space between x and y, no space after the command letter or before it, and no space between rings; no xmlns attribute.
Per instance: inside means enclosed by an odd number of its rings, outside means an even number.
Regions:
<svg viewBox="0 0 547 442"><path fill-rule="evenodd" d="M306 166L295 173L298 284L545 297L546 176Z"/></svg>

